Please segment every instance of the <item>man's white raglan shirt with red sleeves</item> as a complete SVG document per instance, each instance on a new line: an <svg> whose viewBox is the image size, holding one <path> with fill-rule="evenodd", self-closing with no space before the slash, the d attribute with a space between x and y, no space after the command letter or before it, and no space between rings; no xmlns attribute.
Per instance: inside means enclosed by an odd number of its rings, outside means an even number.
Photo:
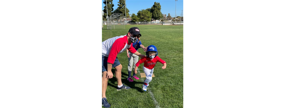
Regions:
<svg viewBox="0 0 285 108"><path fill-rule="evenodd" d="M108 63L114 64L117 55L126 51L126 49L132 53L135 53L137 51L132 46L132 43L129 45L127 43L127 35L109 38L106 41L102 42L102 55L108 57Z"/></svg>

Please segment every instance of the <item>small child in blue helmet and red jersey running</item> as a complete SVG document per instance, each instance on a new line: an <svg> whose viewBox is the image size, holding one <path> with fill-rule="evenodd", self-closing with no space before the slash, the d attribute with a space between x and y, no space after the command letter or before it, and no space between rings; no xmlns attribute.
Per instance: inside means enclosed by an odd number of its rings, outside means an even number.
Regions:
<svg viewBox="0 0 285 108"><path fill-rule="evenodd" d="M143 84L143 91L146 91L147 87L149 86L149 82L151 82L152 80L152 74L153 74L153 68L156 65L156 62L160 62L163 64L162 69L166 68L166 62L164 60L162 60L161 58L159 58L157 56L158 51L156 49L156 46L154 45L150 45L147 47L147 51L146 51L146 57L143 57L142 59L140 59L137 64L136 67L134 68L134 73L137 74L137 67L144 63L143 65L143 71L145 72L145 82Z"/></svg>

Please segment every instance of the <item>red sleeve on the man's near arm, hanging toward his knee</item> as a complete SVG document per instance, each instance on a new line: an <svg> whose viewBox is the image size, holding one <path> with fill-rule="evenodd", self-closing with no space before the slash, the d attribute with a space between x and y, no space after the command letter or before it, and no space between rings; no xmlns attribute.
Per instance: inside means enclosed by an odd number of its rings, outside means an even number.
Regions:
<svg viewBox="0 0 285 108"><path fill-rule="evenodd" d="M126 43L124 43L120 40L116 40L112 45L112 48L110 50L107 62L114 64L118 53L124 48L125 45L126 45Z"/></svg>

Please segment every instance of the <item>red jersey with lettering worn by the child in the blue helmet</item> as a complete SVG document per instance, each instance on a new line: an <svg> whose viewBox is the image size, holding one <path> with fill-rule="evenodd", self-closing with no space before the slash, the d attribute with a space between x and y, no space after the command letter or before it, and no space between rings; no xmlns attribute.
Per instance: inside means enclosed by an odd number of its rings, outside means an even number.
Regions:
<svg viewBox="0 0 285 108"><path fill-rule="evenodd" d="M166 63L164 60L162 60L160 57L156 56L153 59L151 58L147 58L147 57L143 57L142 59L140 59L137 63L136 66L139 67L140 64L144 63L144 67L148 68L148 69L153 69L153 67L156 65L156 62L160 62L162 64Z"/></svg>

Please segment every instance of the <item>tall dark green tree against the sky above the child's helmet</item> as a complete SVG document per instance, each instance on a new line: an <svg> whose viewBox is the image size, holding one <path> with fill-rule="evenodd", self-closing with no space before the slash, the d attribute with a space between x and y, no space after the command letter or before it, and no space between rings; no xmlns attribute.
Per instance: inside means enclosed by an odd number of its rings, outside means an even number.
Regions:
<svg viewBox="0 0 285 108"><path fill-rule="evenodd" d="M160 20L163 16L161 13L161 6L160 3L154 2L153 6L151 7L152 19L153 20Z"/></svg>

